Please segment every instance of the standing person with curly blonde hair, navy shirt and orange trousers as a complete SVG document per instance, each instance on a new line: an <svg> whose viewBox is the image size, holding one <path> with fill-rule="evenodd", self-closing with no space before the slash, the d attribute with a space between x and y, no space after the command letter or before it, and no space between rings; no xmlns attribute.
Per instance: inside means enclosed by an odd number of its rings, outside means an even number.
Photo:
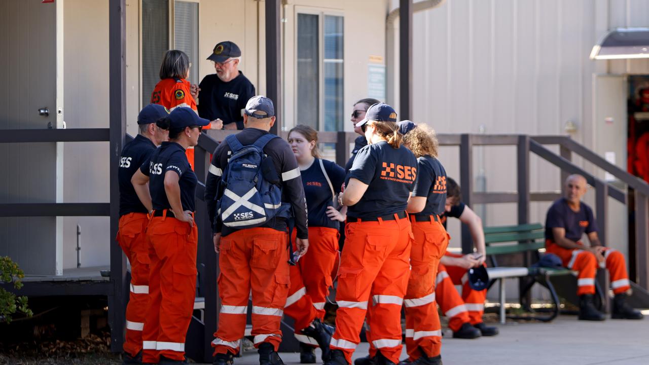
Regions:
<svg viewBox="0 0 649 365"><path fill-rule="evenodd" d="M406 351L413 365L441 364L441 325L435 303L437 265L448 239L439 214L446 204L446 171L437 160L437 136L428 125L400 121L404 144L417 157L417 182L408 199L415 240L410 253L411 275L404 297Z"/></svg>

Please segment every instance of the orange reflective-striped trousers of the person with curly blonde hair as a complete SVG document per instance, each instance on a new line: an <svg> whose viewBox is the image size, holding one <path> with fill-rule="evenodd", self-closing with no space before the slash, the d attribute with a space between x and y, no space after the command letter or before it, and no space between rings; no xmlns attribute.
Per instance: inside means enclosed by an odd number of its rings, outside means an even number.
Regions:
<svg viewBox="0 0 649 365"><path fill-rule="evenodd" d="M442 331L435 302L435 276L450 237L437 216L430 216L430 221L416 221L415 216L411 216L410 221L415 240L410 253L411 271L404 308L406 350L410 360L414 361L421 355L435 357L441 352Z"/></svg>

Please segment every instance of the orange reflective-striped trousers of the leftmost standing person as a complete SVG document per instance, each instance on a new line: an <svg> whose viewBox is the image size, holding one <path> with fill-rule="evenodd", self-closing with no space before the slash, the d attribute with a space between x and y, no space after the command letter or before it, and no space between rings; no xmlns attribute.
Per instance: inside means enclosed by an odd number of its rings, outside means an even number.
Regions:
<svg viewBox="0 0 649 365"><path fill-rule="evenodd" d="M117 242L130 262L130 297L126 307L124 351L132 357L142 350L142 329L149 309L149 249L145 240L149 217L129 213L119 218Z"/></svg>

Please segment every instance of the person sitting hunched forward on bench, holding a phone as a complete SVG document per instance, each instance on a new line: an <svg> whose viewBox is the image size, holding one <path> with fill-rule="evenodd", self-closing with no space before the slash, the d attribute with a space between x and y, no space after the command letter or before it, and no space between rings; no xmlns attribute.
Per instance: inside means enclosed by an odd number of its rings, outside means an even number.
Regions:
<svg viewBox="0 0 649 365"><path fill-rule="evenodd" d="M447 251L439 261L437 278L435 280L435 300L445 316L448 317L448 327L453 331L454 338L477 338L480 336L495 336L496 327L487 327L482 321L484 302L487 290L473 290L469 286L467 270L484 265L485 236L482 232L482 220L471 208L461 201L458 184L447 177L447 201L445 212L440 216L446 228L447 217L458 218L469 226L473 244L477 252L458 255ZM459 296L455 285L462 285L462 296Z"/></svg>

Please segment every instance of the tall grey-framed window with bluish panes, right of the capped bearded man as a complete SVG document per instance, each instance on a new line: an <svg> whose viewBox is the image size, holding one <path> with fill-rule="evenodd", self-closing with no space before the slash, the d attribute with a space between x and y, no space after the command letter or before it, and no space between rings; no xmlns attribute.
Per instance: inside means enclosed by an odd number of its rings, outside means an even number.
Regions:
<svg viewBox="0 0 649 365"><path fill-rule="evenodd" d="M343 17L297 14L296 123L343 129Z"/></svg>

